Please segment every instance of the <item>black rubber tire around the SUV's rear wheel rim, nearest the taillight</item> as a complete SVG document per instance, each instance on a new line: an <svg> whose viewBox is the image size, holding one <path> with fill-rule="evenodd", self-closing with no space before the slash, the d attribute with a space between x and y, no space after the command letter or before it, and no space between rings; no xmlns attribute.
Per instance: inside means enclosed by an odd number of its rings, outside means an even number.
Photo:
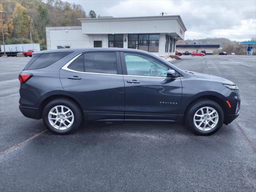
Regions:
<svg viewBox="0 0 256 192"><path fill-rule="evenodd" d="M70 110L74 114L73 124L65 130L58 130L57 128L54 128L48 120L48 114L49 114L50 110L54 106L59 106L59 105L66 106L66 107L70 108ZM71 132L74 132L80 126L81 120L82 120L82 111L79 108L78 104L76 104L72 100L69 100L66 98L58 98L58 99L52 100L45 106L43 113L42 113L42 119L43 119L43 122L44 122L44 125L46 126L46 128L48 128L48 130L50 130L51 132L53 132L55 134L69 134Z"/></svg>

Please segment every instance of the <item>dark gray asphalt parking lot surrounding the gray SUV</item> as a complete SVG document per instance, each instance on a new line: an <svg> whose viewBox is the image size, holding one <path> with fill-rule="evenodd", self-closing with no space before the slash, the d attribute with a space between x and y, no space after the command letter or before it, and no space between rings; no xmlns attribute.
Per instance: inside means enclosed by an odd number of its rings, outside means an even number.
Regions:
<svg viewBox="0 0 256 192"><path fill-rule="evenodd" d="M240 116L211 136L171 122L88 124L54 135L18 110L18 74L29 59L0 58L0 191L256 190L256 56L173 62L239 86Z"/></svg>

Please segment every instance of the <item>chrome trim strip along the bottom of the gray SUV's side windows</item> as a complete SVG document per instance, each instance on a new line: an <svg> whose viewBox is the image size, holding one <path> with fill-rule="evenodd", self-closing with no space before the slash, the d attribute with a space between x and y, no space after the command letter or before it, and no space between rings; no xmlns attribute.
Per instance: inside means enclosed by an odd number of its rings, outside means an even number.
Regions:
<svg viewBox="0 0 256 192"><path fill-rule="evenodd" d="M76 71L76 70L72 70L72 69L68 68L68 66L69 66L74 60L76 60L76 58L78 58L78 57L79 57L80 55L82 55L82 54L83 54L83 53L80 53L79 55L77 55L77 56L75 56L74 58L72 58L72 60L70 60L69 62L67 62L61 69L66 70L66 71L75 72L75 73L96 74L96 75L114 75L114 76L146 77L146 78L162 78L162 79L180 79L180 78L183 78L183 77L170 78L170 77L153 77L153 76L138 76L138 75L108 74L108 73L93 73L93 72Z"/></svg>

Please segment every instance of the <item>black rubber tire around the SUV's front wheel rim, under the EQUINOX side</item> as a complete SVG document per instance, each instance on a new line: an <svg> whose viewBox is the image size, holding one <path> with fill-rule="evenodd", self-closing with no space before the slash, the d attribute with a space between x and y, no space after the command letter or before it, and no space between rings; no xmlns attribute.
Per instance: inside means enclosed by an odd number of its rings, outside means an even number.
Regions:
<svg viewBox="0 0 256 192"><path fill-rule="evenodd" d="M202 107L214 108L218 113L218 123L211 130L206 130L206 131L200 130L194 124L194 115ZM185 118L186 118L187 126L189 126L195 134L202 135L202 136L208 136L208 135L216 133L222 127L223 122L224 122L224 111L223 111L222 107L215 101L209 100L209 99L201 99L201 100L194 102L193 104L191 104L188 107L188 109L186 111Z"/></svg>

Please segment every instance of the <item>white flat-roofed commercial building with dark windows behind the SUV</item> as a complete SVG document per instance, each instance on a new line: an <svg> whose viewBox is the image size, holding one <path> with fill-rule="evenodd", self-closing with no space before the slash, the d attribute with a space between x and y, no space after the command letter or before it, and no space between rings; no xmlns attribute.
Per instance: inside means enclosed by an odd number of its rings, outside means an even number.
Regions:
<svg viewBox="0 0 256 192"><path fill-rule="evenodd" d="M180 16L79 19L82 26L46 27L47 49L118 47L174 55L186 27Z"/></svg>

